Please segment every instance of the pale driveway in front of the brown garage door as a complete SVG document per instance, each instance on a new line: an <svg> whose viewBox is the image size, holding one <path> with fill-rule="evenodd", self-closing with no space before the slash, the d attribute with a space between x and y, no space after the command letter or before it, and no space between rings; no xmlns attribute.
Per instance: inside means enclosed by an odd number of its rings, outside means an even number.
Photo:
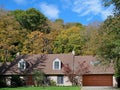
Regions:
<svg viewBox="0 0 120 90"><path fill-rule="evenodd" d="M113 87L95 87L95 86L85 86L81 90L120 90Z"/></svg>

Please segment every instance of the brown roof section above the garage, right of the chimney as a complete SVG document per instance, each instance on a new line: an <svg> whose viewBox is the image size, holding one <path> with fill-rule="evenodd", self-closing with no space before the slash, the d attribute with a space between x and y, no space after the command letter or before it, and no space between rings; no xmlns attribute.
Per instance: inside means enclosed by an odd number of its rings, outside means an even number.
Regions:
<svg viewBox="0 0 120 90"><path fill-rule="evenodd" d="M102 65L97 61L97 58L93 56L75 56L75 65L77 65L78 62L83 61L86 61L86 64L89 67L88 74L114 74L112 64L109 67Z"/></svg>

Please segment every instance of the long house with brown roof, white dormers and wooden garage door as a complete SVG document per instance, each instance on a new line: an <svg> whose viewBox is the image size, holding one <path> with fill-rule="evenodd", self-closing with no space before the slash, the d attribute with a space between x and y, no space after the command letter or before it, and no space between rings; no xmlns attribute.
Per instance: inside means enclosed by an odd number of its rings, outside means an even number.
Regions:
<svg viewBox="0 0 120 90"><path fill-rule="evenodd" d="M89 65L89 73L82 76L83 86L115 86L114 69L96 65L99 62L93 56L74 56L73 54L44 54L23 55L17 57L14 62L8 63L7 70L1 75L10 78L11 75L26 77L26 84L33 85L33 71L42 70L47 78L55 81L57 85L69 86L72 83L64 74L63 64L69 64L71 68L77 67L78 62L86 61ZM25 63L26 62L26 63Z"/></svg>

